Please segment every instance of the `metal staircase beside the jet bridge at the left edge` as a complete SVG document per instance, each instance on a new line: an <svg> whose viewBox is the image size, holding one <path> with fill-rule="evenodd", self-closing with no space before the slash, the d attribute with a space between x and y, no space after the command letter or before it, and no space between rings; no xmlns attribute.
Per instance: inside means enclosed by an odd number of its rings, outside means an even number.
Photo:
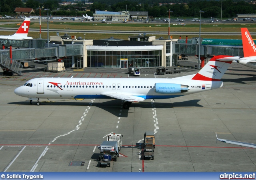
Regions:
<svg viewBox="0 0 256 180"><path fill-rule="evenodd" d="M18 61L11 60L8 53L5 51L0 52L0 65L4 71L3 75L11 76L12 72L22 75L21 72L23 65Z"/></svg>

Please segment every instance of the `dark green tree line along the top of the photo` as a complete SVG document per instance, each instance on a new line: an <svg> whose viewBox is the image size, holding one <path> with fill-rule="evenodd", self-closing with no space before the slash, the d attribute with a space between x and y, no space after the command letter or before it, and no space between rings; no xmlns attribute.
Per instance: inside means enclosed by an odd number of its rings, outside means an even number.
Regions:
<svg viewBox="0 0 256 180"><path fill-rule="evenodd" d="M35 14L39 14L38 8L49 9L50 13L54 16L82 16L84 12L75 10L76 7L85 7L83 2L78 2L76 5L60 6L61 0L1 0L0 1L0 14L13 15L16 7L33 8L36 10ZM220 1L206 1L206 0L174 0L175 4L163 4L152 0L141 0L141 4L136 0L120 1L111 0L111 4L106 4L106 0L94 0L92 5L87 8L90 11L86 12L88 16L92 16L95 10L107 11L147 11L150 17L167 17L168 10L172 11L172 17L199 17L199 11L202 18L214 17L232 18L236 14L256 14L256 4L251 4L245 1L237 0L220 0ZM170 2L170 0L161 0L161 3ZM222 5L222 9L221 9ZM58 8L58 10L57 10ZM222 10L222 11L221 11ZM42 15L46 14L45 11L41 12Z"/></svg>

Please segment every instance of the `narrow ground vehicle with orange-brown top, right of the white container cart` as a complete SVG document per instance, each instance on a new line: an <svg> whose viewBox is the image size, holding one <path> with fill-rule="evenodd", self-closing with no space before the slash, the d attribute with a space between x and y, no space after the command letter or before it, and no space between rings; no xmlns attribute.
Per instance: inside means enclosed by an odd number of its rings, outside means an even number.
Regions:
<svg viewBox="0 0 256 180"><path fill-rule="evenodd" d="M144 134L144 155L143 158L154 160L155 135L153 131L146 131Z"/></svg>

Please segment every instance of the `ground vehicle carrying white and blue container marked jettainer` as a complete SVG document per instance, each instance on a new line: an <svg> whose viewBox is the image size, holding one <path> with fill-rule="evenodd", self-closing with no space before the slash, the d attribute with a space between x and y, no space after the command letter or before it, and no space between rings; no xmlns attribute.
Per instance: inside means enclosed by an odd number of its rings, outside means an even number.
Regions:
<svg viewBox="0 0 256 180"><path fill-rule="evenodd" d="M100 144L100 154L102 153L110 154L111 160L116 161L116 159L119 157L118 142L104 140ZM100 158L101 156L99 156L99 160Z"/></svg>

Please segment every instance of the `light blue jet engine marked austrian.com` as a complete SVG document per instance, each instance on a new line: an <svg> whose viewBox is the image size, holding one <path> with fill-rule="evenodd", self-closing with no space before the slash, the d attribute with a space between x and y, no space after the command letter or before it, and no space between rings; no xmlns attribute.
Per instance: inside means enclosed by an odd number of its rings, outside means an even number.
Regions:
<svg viewBox="0 0 256 180"><path fill-rule="evenodd" d="M175 94L188 91L187 85L174 83L155 83L155 92L160 94Z"/></svg>

